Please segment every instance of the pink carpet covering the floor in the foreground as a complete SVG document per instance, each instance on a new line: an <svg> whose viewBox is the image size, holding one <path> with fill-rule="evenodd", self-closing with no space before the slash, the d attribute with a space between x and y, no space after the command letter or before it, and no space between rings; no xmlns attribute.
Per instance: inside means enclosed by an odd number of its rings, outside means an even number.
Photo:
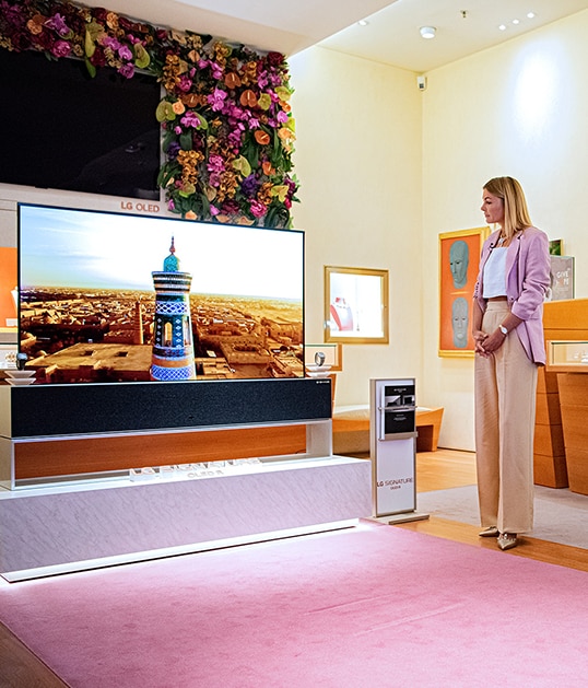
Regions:
<svg viewBox="0 0 588 688"><path fill-rule="evenodd" d="M0 584L84 688L585 687L586 573L357 528Z"/></svg>

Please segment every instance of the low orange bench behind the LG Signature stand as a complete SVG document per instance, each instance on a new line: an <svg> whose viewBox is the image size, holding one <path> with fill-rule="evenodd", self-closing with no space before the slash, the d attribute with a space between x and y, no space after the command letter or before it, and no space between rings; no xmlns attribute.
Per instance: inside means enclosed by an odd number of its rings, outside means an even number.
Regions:
<svg viewBox="0 0 588 688"><path fill-rule="evenodd" d="M416 408L416 451L436 452L443 407ZM333 454L369 452L369 406L340 406L332 415Z"/></svg>

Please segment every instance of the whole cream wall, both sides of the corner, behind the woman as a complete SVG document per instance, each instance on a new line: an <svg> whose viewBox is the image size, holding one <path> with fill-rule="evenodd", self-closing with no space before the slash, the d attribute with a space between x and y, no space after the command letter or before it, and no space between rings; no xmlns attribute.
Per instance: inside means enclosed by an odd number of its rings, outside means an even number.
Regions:
<svg viewBox="0 0 588 688"><path fill-rule="evenodd" d="M290 59L307 233L307 341L322 341L322 266L390 271L390 345L345 345L337 403L415 376L444 406L440 446L473 450L473 359L438 357L438 235L483 226L482 185L520 179L533 222L576 257L588 296L588 11L427 74L310 48Z"/></svg>

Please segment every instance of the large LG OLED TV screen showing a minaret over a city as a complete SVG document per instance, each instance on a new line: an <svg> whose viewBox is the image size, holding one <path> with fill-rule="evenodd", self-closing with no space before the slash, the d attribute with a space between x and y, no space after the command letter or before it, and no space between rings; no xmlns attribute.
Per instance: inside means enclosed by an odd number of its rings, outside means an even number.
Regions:
<svg viewBox="0 0 588 688"><path fill-rule="evenodd" d="M304 233L19 206L35 384L303 377Z"/></svg>

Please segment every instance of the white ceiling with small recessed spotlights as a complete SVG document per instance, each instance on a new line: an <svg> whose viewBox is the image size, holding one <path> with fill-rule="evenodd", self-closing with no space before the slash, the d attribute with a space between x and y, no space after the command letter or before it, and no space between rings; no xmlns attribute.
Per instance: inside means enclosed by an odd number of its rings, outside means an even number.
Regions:
<svg viewBox="0 0 588 688"><path fill-rule="evenodd" d="M286 56L319 44L415 72L588 9L588 0L108 0L106 4L151 24L208 33ZM533 19L527 18L529 11L536 13ZM360 26L357 21L364 19L367 24ZM499 31L503 23L506 30ZM436 37L421 38L423 25L436 27Z"/></svg>

